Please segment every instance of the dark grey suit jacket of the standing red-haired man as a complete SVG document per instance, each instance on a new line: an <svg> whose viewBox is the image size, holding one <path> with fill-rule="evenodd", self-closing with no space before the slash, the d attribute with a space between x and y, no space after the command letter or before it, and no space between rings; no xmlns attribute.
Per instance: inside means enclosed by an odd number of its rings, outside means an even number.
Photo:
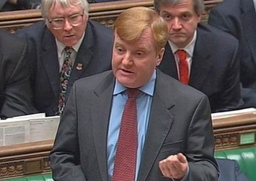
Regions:
<svg viewBox="0 0 256 181"><path fill-rule="evenodd" d="M115 78L112 71L75 82L51 151L55 181L108 181L107 133ZM216 181L208 98L157 71L137 181L169 181L159 161L182 152L189 181Z"/></svg>

